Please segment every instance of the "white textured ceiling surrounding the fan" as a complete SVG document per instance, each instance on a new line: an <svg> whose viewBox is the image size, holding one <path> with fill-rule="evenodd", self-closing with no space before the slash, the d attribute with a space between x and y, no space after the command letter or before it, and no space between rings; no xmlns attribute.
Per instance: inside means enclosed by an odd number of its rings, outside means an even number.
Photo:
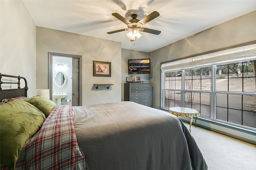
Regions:
<svg viewBox="0 0 256 170"><path fill-rule="evenodd" d="M23 0L36 26L58 29L122 43L123 49L150 52L190 35L256 10L256 0ZM143 27L160 30L159 35L141 32L131 42L122 31L137 14L141 20L153 11L160 16Z"/></svg>

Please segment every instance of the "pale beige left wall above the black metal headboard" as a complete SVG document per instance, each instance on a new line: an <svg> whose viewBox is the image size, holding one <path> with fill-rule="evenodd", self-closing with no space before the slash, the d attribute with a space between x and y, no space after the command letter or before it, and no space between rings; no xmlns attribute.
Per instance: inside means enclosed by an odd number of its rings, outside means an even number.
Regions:
<svg viewBox="0 0 256 170"><path fill-rule="evenodd" d="M36 25L22 1L0 1L0 72L22 76L36 90Z"/></svg>

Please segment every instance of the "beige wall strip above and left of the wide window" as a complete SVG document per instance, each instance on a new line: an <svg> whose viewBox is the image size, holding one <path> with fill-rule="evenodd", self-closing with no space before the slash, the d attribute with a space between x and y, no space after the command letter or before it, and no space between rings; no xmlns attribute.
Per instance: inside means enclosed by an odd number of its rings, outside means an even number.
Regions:
<svg viewBox="0 0 256 170"><path fill-rule="evenodd" d="M149 53L154 71L153 107L160 107L160 63L256 40L256 11L216 25L210 29Z"/></svg>

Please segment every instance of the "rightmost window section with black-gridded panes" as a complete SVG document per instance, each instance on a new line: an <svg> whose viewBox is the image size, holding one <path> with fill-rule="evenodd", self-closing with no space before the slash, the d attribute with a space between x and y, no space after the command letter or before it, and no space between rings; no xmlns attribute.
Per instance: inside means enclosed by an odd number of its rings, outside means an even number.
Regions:
<svg viewBox="0 0 256 170"><path fill-rule="evenodd" d="M255 92L252 62L216 66L216 119L256 128Z"/></svg>

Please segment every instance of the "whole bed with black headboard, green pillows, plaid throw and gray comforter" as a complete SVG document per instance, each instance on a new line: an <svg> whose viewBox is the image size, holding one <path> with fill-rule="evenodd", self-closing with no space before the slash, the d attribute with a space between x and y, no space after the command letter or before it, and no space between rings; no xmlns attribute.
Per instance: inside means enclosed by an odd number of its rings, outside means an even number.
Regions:
<svg viewBox="0 0 256 170"><path fill-rule="evenodd" d="M8 77L8 75L4 76ZM168 112L134 102L56 106L54 102L43 96L27 98L26 85L18 89L23 90L24 94L19 92L15 95L10 93L13 90L2 88L0 91L1 101L5 99L3 101L5 103L0 105L1 169L207 170L208 168L202 152L188 129L178 117ZM16 115L21 116L20 113L26 115L22 115L24 121L27 117L30 119L33 117L33 121L30 120L26 126L29 129L33 129L36 125L33 132L22 133L26 138L19 148L15 149L17 158L13 156L12 162L6 161L6 150L13 148L8 145L10 142L6 144L7 146L2 146L4 139L10 140L3 131L8 131L16 124L25 123L17 121L19 118L15 117L10 127L3 123L9 121L8 113L15 114L10 108L18 109ZM38 122L31 125L35 119L34 115L27 116L27 114L34 112L37 113ZM33 128L30 128L30 125ZM17 128L20 133L20 127ZM14 133L14 139L15 137L17 133Z"/></svg>

